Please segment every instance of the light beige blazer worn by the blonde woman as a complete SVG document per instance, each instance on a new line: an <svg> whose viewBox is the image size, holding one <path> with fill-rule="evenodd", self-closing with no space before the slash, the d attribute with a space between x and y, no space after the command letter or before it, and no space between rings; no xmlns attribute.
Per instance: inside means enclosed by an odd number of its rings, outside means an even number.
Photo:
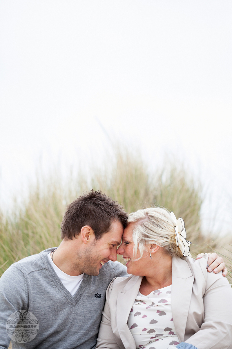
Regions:
<svg viewBox="0 0 232 349"><path fill-rule="evenodd" d="M208 273L202 259L173 257L171 309L179 342L198 349L232 348L232 289L222 276ZM142 276L117 277L106 291L96 349L136 349L127 326ZM165 348L166 349L166 348Z"/></svg>

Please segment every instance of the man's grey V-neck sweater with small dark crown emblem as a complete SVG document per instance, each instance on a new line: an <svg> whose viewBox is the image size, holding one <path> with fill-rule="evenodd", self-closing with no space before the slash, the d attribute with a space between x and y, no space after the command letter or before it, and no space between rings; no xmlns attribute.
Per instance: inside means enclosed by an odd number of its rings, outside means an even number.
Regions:
<svg viewBox="0 0 232 349"><path fill-rule="evenodd" d="M119 262L106 263L98 276L84 275L72 296L48 260L49 248L11 265L0 279L0 348L7 349L8 317L27 310L35 315L39 331L28 343L15 348L93 349L105 303L105 291L114 277L128 276Z"/></svg>

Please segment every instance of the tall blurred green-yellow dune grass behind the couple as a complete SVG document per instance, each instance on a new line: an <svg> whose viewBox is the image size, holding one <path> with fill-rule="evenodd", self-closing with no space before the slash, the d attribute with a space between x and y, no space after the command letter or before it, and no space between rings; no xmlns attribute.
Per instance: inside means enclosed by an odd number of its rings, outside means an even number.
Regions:
<svg viewBox="0 0 232 349"><path fill-rule="evenodd" d="M71 174L65 182L56 174L40 176L23 204L15 204L14 214L0 212L0 275L19 259L58 246L66 205L91 188L117 200L128 213L151 205L174 211L185 221L193 256L206 247L203 242L217 248L201 232L201 185L183 166L177 168L169 162L152 171L141 156L117 150L111 166L93 166L90 173L88 179L81 171ZM227 262L231 266L231 260Z"/></svg>

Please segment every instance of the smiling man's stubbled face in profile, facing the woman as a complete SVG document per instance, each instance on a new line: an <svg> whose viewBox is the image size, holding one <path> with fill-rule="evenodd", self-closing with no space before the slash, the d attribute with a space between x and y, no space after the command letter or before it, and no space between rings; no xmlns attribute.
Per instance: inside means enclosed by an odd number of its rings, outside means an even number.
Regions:
<svg viewBox="0 0 232 349"><path fill-rule="evenodd" d="M104 263L117 260L117 247L121 244L123 226L119 221L111 224L110 230L101 239L94 240L81 253L82 273L98 275Z"/></svg>

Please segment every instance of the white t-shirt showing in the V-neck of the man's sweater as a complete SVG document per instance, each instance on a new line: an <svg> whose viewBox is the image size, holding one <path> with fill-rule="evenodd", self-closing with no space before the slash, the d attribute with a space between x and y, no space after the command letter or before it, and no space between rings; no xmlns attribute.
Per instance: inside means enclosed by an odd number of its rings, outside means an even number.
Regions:
<svg viewBox="0 0 232 349"><path fill-rule="evenodd" d="M51 265L53 266L53 269L55 270L56 274L58 275L59 279L63 283L64 287L71 293L72 296L74 296L74 294L77 292L85 274L81 274L78 276L71 276L71 275L65 274L51 260L50 252L48 253L48 259L49 259Z"/></svg>

